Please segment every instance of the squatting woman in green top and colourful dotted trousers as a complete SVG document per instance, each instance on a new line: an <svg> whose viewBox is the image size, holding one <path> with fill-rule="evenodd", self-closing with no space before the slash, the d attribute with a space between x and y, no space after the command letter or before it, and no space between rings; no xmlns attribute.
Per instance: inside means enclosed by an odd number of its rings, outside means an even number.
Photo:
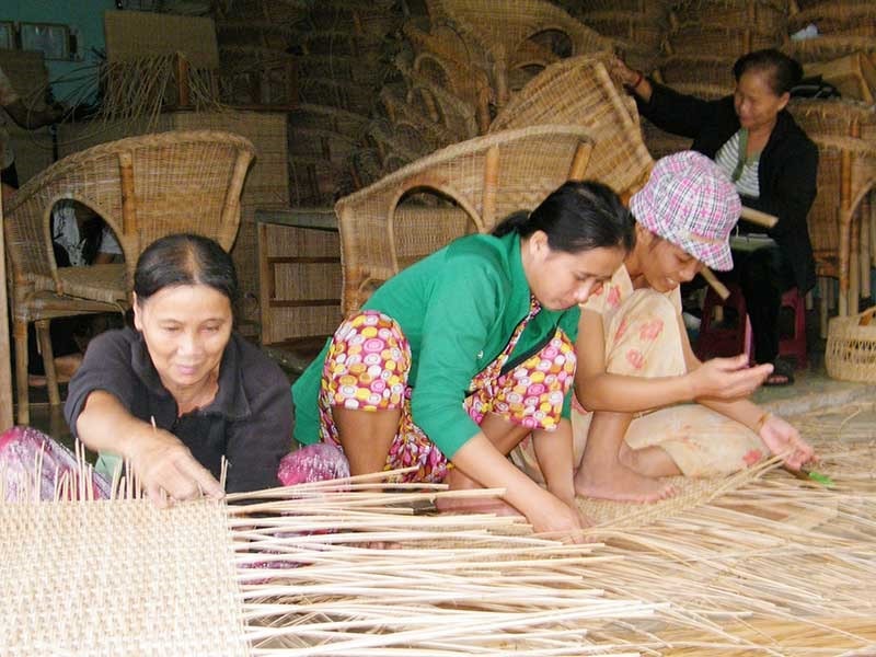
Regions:
<svg viewBox="0 0 876 657"><path fill-rule="evenodd" d="M292 387L299 442L350 474L504 488L537 531L572 531L569 388L578 306L633 244L598 183L569 182L492 235L461 238L388 280ZM532 436L548 491L506 456Z"/></svg>

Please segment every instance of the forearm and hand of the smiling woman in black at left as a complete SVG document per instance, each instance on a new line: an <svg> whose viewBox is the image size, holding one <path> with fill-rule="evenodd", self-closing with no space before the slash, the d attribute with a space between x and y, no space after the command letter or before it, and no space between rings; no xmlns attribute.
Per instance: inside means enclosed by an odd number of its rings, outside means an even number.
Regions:
<svg viewBox="0 0 876 657"><path fill-rule="evenodd" d="M92 391L76 420L77 436L94 451L108 451L129 461L149 498L164 507L171 499L224 493L173 434L137 419L112 394Z"/></svg>

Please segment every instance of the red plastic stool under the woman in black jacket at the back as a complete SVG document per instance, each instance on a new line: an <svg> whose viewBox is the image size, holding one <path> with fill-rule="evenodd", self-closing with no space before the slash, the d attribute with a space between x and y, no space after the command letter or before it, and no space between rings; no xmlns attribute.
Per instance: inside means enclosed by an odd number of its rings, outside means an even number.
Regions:
<svg viewBox="0 0 876 657"><path fill-rule="evenodd" d="M742 290L739 289L738 285L729 285L728 289L730 290L730 296L726 300L718 297L717 292L712 288L708 288L705 295L700 335L694 348L700 360L707 360L716 356L736 356L742 353L748 355L749 360L752 358L753 336ZM716 307L735 309L738 315L736 324L730 327L715 325ZM806 303L797 288L791 288L782 295L782 308L794 310L794 334L779 341L779 355L794 356L797 368L806 367L808 364L806 355ZM745 324L742 324L742 321L745 321ZM744 326L744 330L740 330L741 326Z"/></svg>

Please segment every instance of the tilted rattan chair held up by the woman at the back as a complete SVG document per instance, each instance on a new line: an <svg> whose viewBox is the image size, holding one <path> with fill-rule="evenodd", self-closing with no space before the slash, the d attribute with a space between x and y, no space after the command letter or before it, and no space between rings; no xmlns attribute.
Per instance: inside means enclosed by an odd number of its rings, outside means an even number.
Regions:
<svg viewBox="0 0 876 657"><path fill-rule="evenodd" d="M523 87L489 131L540 124L585 126L596 140L588 176L624 193L647 178L654 160L642 141L638 114L608 74L606 55L564 59Z"/></svg>

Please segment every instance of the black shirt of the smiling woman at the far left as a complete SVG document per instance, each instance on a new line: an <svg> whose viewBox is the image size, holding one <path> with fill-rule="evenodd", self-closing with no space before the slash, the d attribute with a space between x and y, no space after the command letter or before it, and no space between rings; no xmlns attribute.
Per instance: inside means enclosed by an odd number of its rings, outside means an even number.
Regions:
<svg viewBox="0 0 876 657"><path fill-rule="evenodd" d="M70 381L64 412L73 436L89 394L108 392L145 422L176 436L217 479L229 461L229 493L279 485L277 466L292 447L292 397L283 370L232 333L219 366L219 390L205 408L178 416L139 332L107 331L89 344Z"/></svg>

